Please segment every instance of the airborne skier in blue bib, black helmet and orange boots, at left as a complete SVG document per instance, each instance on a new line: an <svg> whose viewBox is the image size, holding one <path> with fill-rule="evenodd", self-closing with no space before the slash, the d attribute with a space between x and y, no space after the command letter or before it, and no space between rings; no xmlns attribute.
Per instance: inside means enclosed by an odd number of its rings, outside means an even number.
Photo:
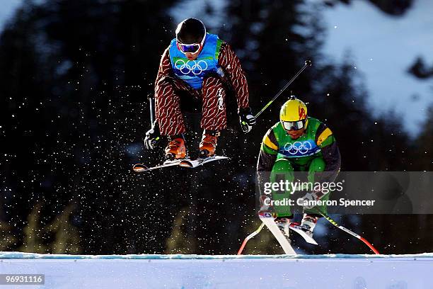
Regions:
<svg viewBox="0 0 433 289"><path fill-rule="evenodd" d="M221 130L226 128L226 95L236 96L243 131L255 123L248 103L248 84L241 63L230 45L207 33L202 21L187 18L179 23L176 37L164 51L155 81L156 122L146 132L144 144L153 149L160 135L168 137L167 159L186 157L186 132L181 97L202 103L201 157L212 157Z"/></svg>

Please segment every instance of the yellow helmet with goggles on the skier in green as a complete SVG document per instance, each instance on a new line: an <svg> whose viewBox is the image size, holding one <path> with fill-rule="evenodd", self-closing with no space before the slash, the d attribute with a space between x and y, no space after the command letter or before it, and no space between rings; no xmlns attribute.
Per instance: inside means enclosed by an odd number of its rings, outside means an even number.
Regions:
<svg viewBox="0 0 433 289"><path fill-rule="evenodd" d="M279 111L279 121L286 130L300 130L306 126L307 108L304 101L291 96Z"/></svg>

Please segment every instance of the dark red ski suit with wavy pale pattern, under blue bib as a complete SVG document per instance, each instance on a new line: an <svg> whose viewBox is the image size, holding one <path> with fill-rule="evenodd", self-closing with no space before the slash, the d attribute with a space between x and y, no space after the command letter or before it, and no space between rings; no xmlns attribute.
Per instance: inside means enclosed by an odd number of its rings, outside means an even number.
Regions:
<svg viewBox="0 0 433 289"><path fill-rule="evenodd" d="M183 115L180 111L178 91L187 91L191 97L202 100L202 121L204 130L226 128L226 86L227 81L233 89L238 108L248 108L248 85L241 62L223 42L219 50L218 63L224 69L224 79L216 76L205 77L202 89L192 89L183 80L175 77L171 67L168 48L164 51L155 81L155 108L161 135L179 135L185 132Z"/></svg>

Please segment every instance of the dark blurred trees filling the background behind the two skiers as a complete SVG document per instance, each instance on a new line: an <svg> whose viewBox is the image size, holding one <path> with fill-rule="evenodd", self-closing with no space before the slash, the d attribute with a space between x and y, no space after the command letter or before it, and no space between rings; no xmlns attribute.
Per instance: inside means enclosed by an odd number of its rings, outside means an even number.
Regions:
<svg viewBox="0 0 433 289"><path fill-rule="evenodd" d="M136 162L161 162L163 149L146 152L141 138L150 126L146 96L174 35L168 10L175 3L25 1L9 21L0 36L1 250L233 254L257 226L255 163L285 97L248 135L240 131L229 99L229 128L219 142L221 154L231 157L224 164L142 175L130 171ZM401 3L408 8L411 1ZM206 9L204 23L212 12ZM332 128L342 170L432 170L432 111L416 140L392 113L374 118L350 57L335 64L321 55L325 31L319 4L230 1L223 22L208 30L238 52L253 111L311 59L314 66L291 90ZM187 147L193 151L195 132L200 133L197 115L188 123ZM374 243L383 253L432 251L429 216L342 221L371 237L379 230ZM417 234L394 238L414 223ZM35 243L29 244L29 237ZM322 239L326 249L299 246L315 253L364 252L344 233ZM59 247L64 242L68 246ZM413 243L417 246L408 249ZM266 234L255 244L250 252L280 253Z"/></svg>

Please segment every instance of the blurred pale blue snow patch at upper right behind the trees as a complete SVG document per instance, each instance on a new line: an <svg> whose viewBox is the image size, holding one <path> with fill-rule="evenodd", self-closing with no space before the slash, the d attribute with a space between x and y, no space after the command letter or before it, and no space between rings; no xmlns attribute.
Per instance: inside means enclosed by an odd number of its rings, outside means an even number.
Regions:
<svg viewBox="0 0 433 289"><path fill-rule="evenodd" d="M323 52L341 61L349 50L353 67L364 75L369 102L376 114L395 109L415 135L432 105L432 81L407 70L422 56L433 62L433 3L417 0L401 17L388 16L368 1L352 1L323 10L328 36ZM414 125L415 124L415 125Z"/></svg>

